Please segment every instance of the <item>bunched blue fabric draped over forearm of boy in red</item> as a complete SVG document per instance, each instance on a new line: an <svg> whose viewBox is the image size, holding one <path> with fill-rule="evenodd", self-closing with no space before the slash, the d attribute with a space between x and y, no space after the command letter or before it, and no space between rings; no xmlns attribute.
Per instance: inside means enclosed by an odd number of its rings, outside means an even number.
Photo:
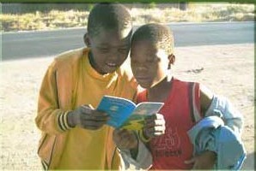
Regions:
<svg viewBox="0 0 256 171"><path fill-rule="evenodd" d="M204 150L215 151L217 155L216 169L238 170L246 159L244 144L232 129L224 126L218 116L208 116L199 121L188 131L194 146L193 155Z"/></svg>

